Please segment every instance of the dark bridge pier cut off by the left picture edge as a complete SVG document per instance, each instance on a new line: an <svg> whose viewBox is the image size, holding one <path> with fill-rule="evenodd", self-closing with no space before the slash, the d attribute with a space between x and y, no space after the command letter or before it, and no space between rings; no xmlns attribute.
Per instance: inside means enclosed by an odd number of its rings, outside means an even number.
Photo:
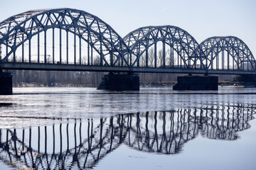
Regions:
<svg viewBox="0 0 256 170"><path fill-rule="evenodd" d="M12 91L12 75L11 73L1 72L0 70L0 95L11 95Z"/></svg>

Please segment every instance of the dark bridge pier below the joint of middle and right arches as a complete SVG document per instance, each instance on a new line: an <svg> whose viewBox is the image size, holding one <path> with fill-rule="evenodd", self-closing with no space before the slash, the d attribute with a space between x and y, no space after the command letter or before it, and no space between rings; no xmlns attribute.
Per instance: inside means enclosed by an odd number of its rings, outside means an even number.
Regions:
<svg viewBox="0 0 256 170"><path fill-rule="evenodd" d="M178 77L174 90L218 90L218 77L185 76Z"/></svg>

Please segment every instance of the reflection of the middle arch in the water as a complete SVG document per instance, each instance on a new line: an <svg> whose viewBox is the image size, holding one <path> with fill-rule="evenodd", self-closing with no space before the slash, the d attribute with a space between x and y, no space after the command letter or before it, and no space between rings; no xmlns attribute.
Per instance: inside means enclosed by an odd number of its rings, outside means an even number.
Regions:
<svg viewBox="0 0 256 170"><path fill-rule="evenodd" d="M177 154L198 134L196 122L188 120L189 112L138 113L136 123L132 123L132 117L128 120L129 130L124 143L144 152Z"/></svg>

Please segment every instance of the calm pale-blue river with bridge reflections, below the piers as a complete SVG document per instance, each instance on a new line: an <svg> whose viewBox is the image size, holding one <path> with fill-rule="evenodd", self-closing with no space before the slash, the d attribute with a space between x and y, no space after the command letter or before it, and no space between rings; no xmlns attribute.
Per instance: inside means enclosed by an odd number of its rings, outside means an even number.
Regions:
<svg viewBox="0 0 256 170"><path fill-rule="evenodd" d="M0 169L255 169L256 89L14 88Z"/></svg>

